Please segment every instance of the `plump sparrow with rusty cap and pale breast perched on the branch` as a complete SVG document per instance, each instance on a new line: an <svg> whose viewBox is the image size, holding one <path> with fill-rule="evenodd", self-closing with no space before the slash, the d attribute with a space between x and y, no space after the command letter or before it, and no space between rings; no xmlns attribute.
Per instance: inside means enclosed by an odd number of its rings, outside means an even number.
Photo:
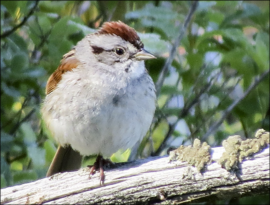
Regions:
<svg viewBox="0 0 270 205"><path fill-rule="evenodd" d="M137 146L155 112L155 86L137 32L121 21L107 21L83 37L47 80L42 119L58 143L46 177L78 170L83 156L97 155L90 175L118 150Z"/></svg>

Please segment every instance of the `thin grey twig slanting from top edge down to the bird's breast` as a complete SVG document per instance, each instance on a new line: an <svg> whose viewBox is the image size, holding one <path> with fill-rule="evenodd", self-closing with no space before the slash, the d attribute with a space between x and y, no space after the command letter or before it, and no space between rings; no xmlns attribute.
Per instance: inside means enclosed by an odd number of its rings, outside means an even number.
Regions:
<svg viewBox="0 0 270 205"><path fill-rule="evenodd" d="M181 39L183 37L184 31L186 30L186 27L187 27L188 23L191 20L191 16L193 15L193 13L196 10L197 4L198 4L198 0L194 0L192 2L190 10L189 10L189 12L188 12L188 14L187 14L187 16L186 16L186 18L184 20L184 24L179 29L179 35L175 39L175 42L173 43L173 46L172 46L172 48L170 50L169 57L167 58L167 60L165 62L165 65L163 66L163 68L162 68L162 70L161 70L161 72L160 72L160 74L158 76L158 79L157 79L156 84L155 84L156 96L158 96L159 93L160 93L160 90L161 90L161 87L163 85L166 73L168 71L168 68L169 68L170 64L172 63L172 60L174 59L174 56L176 54L176 49L180 44L180 41L181 41Z"/></svg>

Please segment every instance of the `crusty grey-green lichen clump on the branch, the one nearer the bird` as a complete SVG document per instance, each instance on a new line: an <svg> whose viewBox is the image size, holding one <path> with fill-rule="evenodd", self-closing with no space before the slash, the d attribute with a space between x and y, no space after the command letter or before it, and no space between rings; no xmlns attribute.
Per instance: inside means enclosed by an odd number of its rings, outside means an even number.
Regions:
<svg viewBox="0 0 270 205"><path fill-rule="evenodd" d="M211 161L211 148L206 142L200 143L199 139L195 139L193 145L181 145L176 150L169 153L169 162L184 161L202 173L206 169L206 165Z"/></svg>

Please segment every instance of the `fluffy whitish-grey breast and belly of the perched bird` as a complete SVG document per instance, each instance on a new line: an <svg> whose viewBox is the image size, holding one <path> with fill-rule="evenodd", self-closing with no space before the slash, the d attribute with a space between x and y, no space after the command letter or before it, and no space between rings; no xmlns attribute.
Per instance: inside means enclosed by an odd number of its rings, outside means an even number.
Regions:
<svg viewBox="0 0 270 205"><path fill-rule="evenodd" d="M155 91L146 73L125 81L115 76L66 72L46 96L41 112L56 141L82 155L110 157L140 142L155 110ZM108 80L111 83L104 83Z"/></svg>

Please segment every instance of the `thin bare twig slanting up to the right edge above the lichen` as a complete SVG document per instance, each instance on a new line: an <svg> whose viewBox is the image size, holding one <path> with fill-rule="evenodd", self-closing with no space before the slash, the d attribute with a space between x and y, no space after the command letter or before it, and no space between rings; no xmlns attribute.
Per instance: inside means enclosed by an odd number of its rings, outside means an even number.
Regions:
<svg viewBox="0 0 270 205"><path fill-rule="evenodd" d="M255 78L253 83L251 83L251 85L249 85L249 87L246 89L246 91L243 93L243 95L241 97L239 97L238 99L236 99L235 101L233 101L230 106L224 110L222 117L220 118L220 120L216 123L214 123L212 126L210 126L210 128L208 129L208 131L205 133L205 135L201 138L202 141L205 141L206 138L213 133L224 121L224 119L227 117L227 115L231 112L231 110L238 105L238 103L244 99L251 90L253 90L267 75L269 74L269 70L266 70L265 72L263 72L259 77Z"/></svg>

